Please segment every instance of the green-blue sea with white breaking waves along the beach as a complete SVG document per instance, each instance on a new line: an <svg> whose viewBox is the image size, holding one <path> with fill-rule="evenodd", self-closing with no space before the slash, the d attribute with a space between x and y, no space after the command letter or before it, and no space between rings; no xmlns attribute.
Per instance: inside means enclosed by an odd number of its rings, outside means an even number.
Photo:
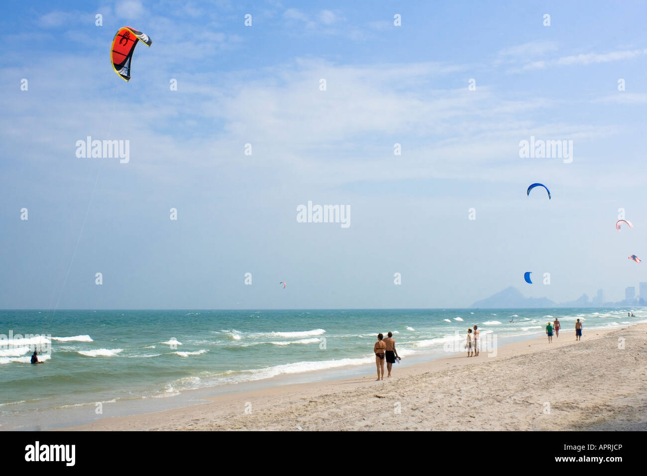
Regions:
<svg viewBox="0 0 647 476"><path fill-rule="evenodd" d="M629 317L633 312L635 317ZM408 365L463 352L477 325L494 346L647 321L644 308L1 310L0 430L83 424L249 389L375 373L377 334ZM40 365L30 365L34 348ZM491 350L491 349L490 349Z"/></svg>

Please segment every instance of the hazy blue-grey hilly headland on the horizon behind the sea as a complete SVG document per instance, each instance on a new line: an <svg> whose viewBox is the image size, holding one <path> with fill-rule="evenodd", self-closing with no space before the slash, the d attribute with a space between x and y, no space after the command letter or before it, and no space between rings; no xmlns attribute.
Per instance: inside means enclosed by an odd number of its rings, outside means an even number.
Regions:
<svg viewBox="0 0 647 476"><path fill-rule="evenodd" d="M597 303L589 301L586 294L582 294L575 301L568 301L566 303L555 303L547 297L525 297L521 294L520 290L514 286L505 288L490 297L476 301L470 307L483 307L483 308L554 308L554 307L638 307L646 306L647 302L642 299L624 299L617 303Z"/></svg>

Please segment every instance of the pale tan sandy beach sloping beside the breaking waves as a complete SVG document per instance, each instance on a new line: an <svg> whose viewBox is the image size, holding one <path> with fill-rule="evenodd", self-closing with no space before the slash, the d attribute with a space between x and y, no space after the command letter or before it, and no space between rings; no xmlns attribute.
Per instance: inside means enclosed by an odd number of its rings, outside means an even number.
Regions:
<svg viewBox="0 0 647 476"><path fill-rule="evenodd" d="M68 430L647 430L647 324L562 330L370 375L217 396ZM622 348L624 347L624 348Z"/></svg>

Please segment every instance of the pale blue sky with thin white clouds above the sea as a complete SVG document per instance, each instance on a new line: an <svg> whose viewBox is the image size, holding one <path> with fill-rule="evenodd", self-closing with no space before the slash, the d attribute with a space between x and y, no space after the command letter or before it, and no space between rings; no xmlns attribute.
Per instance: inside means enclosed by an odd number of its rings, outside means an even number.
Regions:
<svg viewBox="0 0 647 476"><path fill-rule="evenodd" d="M642 2L0 8L0 308L617 301L647 281L627 259L647 259ZM128 82L124 26L153 41ZM129 161L77 157L87 136ZM531 136L573 160L520 157ZM309 201L349 226L298 221Z"/></svg>

